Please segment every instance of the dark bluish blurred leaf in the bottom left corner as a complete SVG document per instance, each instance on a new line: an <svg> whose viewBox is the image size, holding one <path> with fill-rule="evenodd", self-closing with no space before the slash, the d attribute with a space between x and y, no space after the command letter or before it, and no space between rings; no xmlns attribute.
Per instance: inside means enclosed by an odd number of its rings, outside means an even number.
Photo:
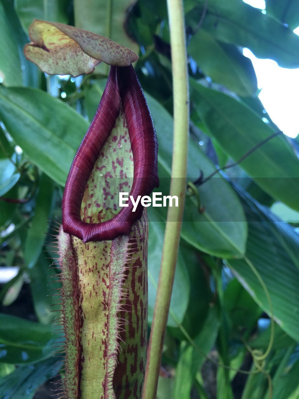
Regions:
<svg viewBox="0 0 299 399"><path fill-rule="evenodd" d="M18 367L0 381L3 399L32 399L37 388L59 371L57 358L51 357L34 365Z"/></svg>

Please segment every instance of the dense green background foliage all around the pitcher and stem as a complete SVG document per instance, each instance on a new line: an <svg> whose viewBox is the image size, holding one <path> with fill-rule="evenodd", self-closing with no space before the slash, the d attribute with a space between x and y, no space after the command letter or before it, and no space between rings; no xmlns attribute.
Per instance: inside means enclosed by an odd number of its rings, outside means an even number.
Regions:
<svg viewBox="0 0 299 399"><path fill-rule="evenodd" d="M194 182L278 131L257 97L256 75L242 47L282 67L299 67L299 37L292 32L299 25L299 2L266 0L265 14L241 0L185 0L184 7L191 95L188 181ZM51 234L47 218L61 218L67 173L108 72L100 64L76 79L45 76L22 52L33 18L76 24L139 53L135 68L157 130L158 191L164 194L171 171L165 2L0 0L0 263L2 275L8 267L18 270L0 290L2 399L52 394L49 384L39 388L60 367L53 357L57 335L49 291L59 283L50 277L57 271L49 269L53 248L44 233ZM273 398L299 397L297 150L296 140L280 134L238 166L189 190L158 399L266 399L269 377ZM150 323L166 214L148 209ZM266 284L270 303L253 270ZM268 347L271 305L274 342L264 372L240 373L256 370L252 350Z"/></svg>

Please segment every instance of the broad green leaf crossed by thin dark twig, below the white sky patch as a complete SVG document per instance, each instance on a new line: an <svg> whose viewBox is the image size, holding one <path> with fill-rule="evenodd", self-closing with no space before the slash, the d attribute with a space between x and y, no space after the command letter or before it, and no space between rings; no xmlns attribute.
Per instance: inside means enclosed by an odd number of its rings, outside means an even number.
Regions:
<svg viewBox="0 0 299 399"><path fill-rule="evenodd" d="M250 109L218 91L190 81L195 107L221 148L238 161L273 134ZM281 134L260 146L240 166L273 198L299 210L299 159Z"/></svg>

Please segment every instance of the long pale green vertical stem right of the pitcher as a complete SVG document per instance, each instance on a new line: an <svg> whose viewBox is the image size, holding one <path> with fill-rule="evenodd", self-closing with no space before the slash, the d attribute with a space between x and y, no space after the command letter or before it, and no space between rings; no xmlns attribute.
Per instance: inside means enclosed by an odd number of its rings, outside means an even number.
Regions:
<svg viewBox="0 0 299 399"><path fill-rule="evenodd" d="M174 118L170 195L178 196L179 206L168 208L167 213L142 399L156 397L186 194L189 91L182 0L167 0L167 8L170 25Z"/></svg>

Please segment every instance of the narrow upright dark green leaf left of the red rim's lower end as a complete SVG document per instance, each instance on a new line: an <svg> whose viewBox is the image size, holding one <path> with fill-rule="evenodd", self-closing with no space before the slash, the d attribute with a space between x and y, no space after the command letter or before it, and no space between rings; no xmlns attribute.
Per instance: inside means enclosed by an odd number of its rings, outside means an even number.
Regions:
<svg viewBox="0 0 299 399"><path fill-rule="evenodd" d="M34 216L26 235L24 260L26 266L33 267L41 253L47 233L47 218L50 216L53 197L53 180L42 174L36 198Z"/></svg>

